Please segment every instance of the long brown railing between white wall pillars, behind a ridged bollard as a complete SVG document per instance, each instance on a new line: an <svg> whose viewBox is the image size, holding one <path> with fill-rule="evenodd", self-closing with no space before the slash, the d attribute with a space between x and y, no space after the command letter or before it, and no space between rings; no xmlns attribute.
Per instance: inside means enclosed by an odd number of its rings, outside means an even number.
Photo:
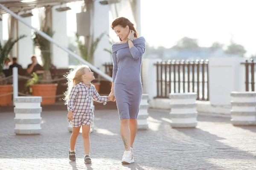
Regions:
<svg viewBox="0 0 256 170"><path fill-rule="evenodd" d="M168 60L157 62L157 96L170 93L197 92L197 100L209 101L209 68L207 60Z"/></svg>

